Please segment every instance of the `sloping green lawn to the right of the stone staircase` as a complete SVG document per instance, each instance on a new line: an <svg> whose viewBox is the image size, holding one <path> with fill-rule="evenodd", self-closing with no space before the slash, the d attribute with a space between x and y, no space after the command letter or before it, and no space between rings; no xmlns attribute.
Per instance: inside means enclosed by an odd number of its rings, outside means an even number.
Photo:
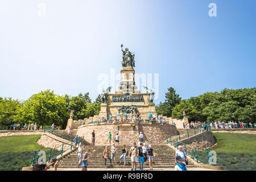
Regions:
<svg viewBox="0 0 256 182"><path fill-rule="evenodd" d="M232 133L213 133L213 135L217 139L217 144L210 150L217 153L217 166L233 171L256 170L256 135ZM198 156L199 159L203 159L203 163L208 164L206 152L199 151Z"/></svg>

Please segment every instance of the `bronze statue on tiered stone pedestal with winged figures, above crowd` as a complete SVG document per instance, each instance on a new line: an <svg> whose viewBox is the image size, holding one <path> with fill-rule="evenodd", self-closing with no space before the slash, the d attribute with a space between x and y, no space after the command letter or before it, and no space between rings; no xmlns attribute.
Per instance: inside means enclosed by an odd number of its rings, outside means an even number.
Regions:
<svg viewBox="0 0 256 182"><path fill-rule="evenodd" d="M154 104L154 88L149 89L146 86L146 93L141 93L134 81L135 76L135 54L131 53L128 48L122 51L122 69L121 69L121 82L118 90L115 93L110 93L112 87L102 90L101 93L101 110L99 116L104 116L109 119L110 115L117 115L118 111L129 114L130 112L139 113L142 119L147 119L148 114L151 112L155 114Z"/></svg>

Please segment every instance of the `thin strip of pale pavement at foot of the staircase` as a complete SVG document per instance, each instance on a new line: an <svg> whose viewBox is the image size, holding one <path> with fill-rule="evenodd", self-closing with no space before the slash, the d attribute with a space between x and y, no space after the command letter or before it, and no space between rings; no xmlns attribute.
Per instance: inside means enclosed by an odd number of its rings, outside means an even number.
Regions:
<svg viewBox="0 0 256 182"><path fill-rule="evenodd" d="M81 171L81 168L58 168L58 171ZM189 171L216 171L213 169L205 169L205 168L188 168ZM53 171L53 168L49 169L49 171ZM131 171L130 168L88 168L88 171ZM148 168L145 168L144 171L149 171ZM153 171L174 171L174 168L162 168L162 169L154 169Z"/></svg>

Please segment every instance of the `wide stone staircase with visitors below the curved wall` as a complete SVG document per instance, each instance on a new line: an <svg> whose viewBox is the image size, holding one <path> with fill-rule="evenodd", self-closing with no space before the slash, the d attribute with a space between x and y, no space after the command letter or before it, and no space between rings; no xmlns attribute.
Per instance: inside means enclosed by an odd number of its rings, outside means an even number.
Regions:
<svg viewBox="0 0 256 182"><path fill-rule="evenodd" d="M89 160L88 160L88 167L89 168L104 168L104 159L103 151L105 146L84 146L85 150L88 148L90 149ZM127 150L130 150L131 146L127 146ZM110 150L110 146L108 147ZM153 163L153 168L174 168L175 162L175 151L172 148L166 145L160 146L152 146L155 151L155 158ZM126 158L126 166L123 166L124 159L122 159L122 164L119 165L119 156L121 156L122 146L117 146L117 154L115 156L115 162L113 161L113 166L110 166L109 160L107 160L107 167L108 168L131 168L131 159L129 156ZM60 160L59 168L80 168L78 166L78 159L76 151L73 151L71 154L65 156L63 159ZM148 168L148 160L147 165L144 168ZM194 164L190 163L187 166L188 168L196 167ZM139 168L137 166L137 168Z"/></svg>

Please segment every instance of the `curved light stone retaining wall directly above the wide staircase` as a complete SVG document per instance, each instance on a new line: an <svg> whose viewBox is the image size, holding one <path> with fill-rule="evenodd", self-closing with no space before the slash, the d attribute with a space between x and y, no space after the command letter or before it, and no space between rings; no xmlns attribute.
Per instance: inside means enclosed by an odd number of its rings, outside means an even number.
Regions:
<svg viewBox="0 0 256 182"><path fill-rule="evenodd" d="M166 141L166 135L176 135L175 126L160 123L122 123L122 124L101 124L95 123L80 126L77 135L84 136L84 139L91 143L92 131L95 130L96 145L108 145L109 132L112 134L112 142L114 136L118 133L119 144L131 145L133 142L138 143L139 132L144 135L144 141L147 144L160 144Z"/></svg>

